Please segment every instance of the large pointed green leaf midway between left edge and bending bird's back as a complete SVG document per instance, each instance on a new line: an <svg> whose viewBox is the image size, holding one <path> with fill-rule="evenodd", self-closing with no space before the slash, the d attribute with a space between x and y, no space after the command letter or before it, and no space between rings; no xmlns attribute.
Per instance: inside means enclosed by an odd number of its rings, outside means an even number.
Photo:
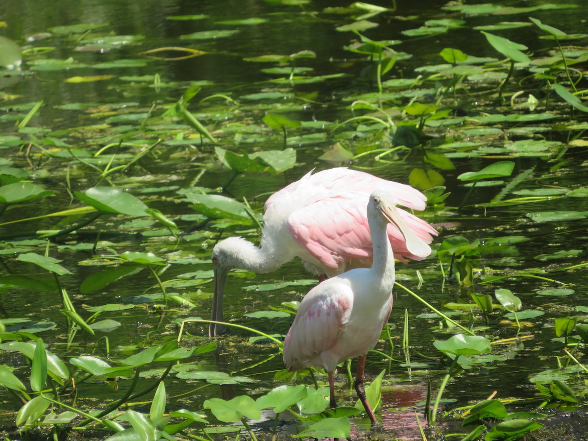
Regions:
<svg viewBox="0 0 588 441"><path fill-rule="evenodd" d="M83 203L102 213L128 215L133 217L149 216L147 206L130 193L111 187L93 187L85 192L75 192Z"/></svg>

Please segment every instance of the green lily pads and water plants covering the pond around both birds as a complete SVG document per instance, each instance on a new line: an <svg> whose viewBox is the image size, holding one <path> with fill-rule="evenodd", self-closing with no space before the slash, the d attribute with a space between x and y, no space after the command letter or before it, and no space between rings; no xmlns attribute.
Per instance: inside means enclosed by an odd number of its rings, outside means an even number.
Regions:
<svg viewBox="0 0 588 441"><path fill-rule="evenodd" d="M588 410L586 6L203 3L165 40L0 22L5 437L583 435L550 422ZM420 189L441 232L368 355L380 431L283 366L298 262L229 276L226 338L205 319L220 236L257 240L271 193L340 165Z"/></svg>

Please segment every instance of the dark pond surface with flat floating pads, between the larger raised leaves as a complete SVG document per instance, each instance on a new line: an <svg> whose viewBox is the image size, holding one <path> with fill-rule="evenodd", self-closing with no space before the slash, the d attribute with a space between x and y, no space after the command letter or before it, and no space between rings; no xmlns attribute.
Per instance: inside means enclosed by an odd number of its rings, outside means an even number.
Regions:
<svg viewBox="0 0 588 441"><path fill-rule="evenodd" d="M429 191L429 207L417 215L439 229L433 255L422 262L398 263L397 281L435 308L457 312L453 319L493 342L492 356L472 357L471 366L447 385L443 397L449 401L442 403L440 425L427 429L430 439L471 432L473 427L461 425L461 412L443 414L493 393L509 412L534 411L544 401L549 404L542 412L586 410L586 373L577 363L586 360L583 346L576 345L582 341L582 332L570 331L567 342L564 335L556 335L556 319L576 317L581 324L588 317L588 144L584 136L588 125L586 113L570 110L549 88L559 81L572 90L561 60L547 59L559 56L557 45L544 38L546 32L528 25L528 17L556 26L567 36L578 34L562 38L562 45L573 60L569 64L581 92L587 85L588 59L581 18L588 9L580 2L553 1L553 7L541 9L542 2L493 2L494 7L499 3L527 9L498 11L490 5L470 11L452 9L456 5L442 1L404 0L396 1L396 11L362 5L348 9L332 1L2 2L0 17L6 26L0 28L1 35L21 46L23 62L20 72L0 76L0 166L25 170L30 174L27 180L52 194L8 205L2 213L0 322L8 332L34 333L65 361L81 355L115 360L174 340L181 320L210 316L210 254L219 234L259 240L248 216L207 215L195 208L198 198L193 195L211 192L239 202L245 199L262 213L270 194L311 169L349 166ZM380 6L392 8L388 2ZM239 21L243 19L252 20ZM365 48L358 52L359 34L340 28L361 20L373 27L355 25L353 29L385 46L383 58L396 60L382 74L380 93L375 57L370 58ZM427 24L432 20L443 22ZM523 51L532 55L534 64L515 65L501 100L498 89L507 78L510 62L476 26L505 21L526 24L487 32L527 46ZM443 31L432 31L437 26ZM153 51L158 48L168 49ZM439 55L444 48L480 57L463 64L479 71L446 71L451 64L431 67L447 64ZM194 50L206 53L192 56ZM261 56L268 57L256 59ZM401 85L406 78L414 79L413 83ZM176 102L189 90L197 94L187 108L203 130L181 112L173 113ZM529 95L538 100L533 108ZM407 110L405 106L414 102L435 109ZM381 109L391 116L393 125ZM281 128L263 120L268 114L296 123L285 127L285 136ZM348 122L362 115L379 122ZM419 126L425 116L427 121ZM411 128L409 143L400 142L407 138L395 138L401 125ZM256 165L251 169L237 169L223 159L219 148L239 155L273 153L265 162L252 160ZM513 172L495 176L489 183L480 181L471 194L458 178L499 161L512 161ZM427 181L419 179L415 169L436 174ZM85 215L58 212L86 206L74 193L95 186L131 193L173 220L179 230L175 237L165 225L146 216L101 216L75 233L50 241L48 255L71 272L59 276L61 288L84 319L96 311L92 308L121 305L120 310L103 310L98 316L118 325L96 330L92 336L68 327L59 311L63 306L54 276L18 256L45 255L43 235L74 225ZM449 196L431 196L433 186L445 186ZM191 188L196 190L188 195L182 190ZM44 215L48 216L32 219ZM451 247L442 243L456 236L471 246L456 253L452 266L450 254L455 248L448 253ZM121 274L101 288L87 289L84 283L98 270L115 263L123 266L113 260L123 252L152 252L162 258L165 265L158 268L158 276L163 286L168 293L189 299L192 308L166 303L151 270L143 266L133 267L132 273ZM45 288L24 279L38 280ZM298 261L268 274L232 273L226 286L225 318L283 336L293 315L269 319L245 314L283 310L283 302L301 300L315 282L251 287L307 279L311 277ZM513 316L505 316L508 311L495 298L497 289L510 290L520 298L520 330ZM492 296L494 309L487 320L471 293ZM408 352L402 348L405 309ZM459 331L430 313L418 300L396 290L389 323L393 347L384 336L376 347L392 360L369 353L366 362L369 381L385 370L383 426L370 432L368 419L352 418L352 437L422 439L413 406L419 405L416 409L423 423L427 382L434 397L451 364L433 341ZM45 326L50 329L42 330ZM210 341L206 323L188 323L183 333L183 346ZM246 330L231 330L230 335L213 340L214 351L190 360L196 360L193 370L226 372L238 380L206 382L171 375L166 379L168 409L203 412L212 423L206 425L209 436L223 439L219 433L226 430L234 439L235 426L213 427L216 419L203 410L205 400L255 398L284 383L312 383L308 376L292 378L283 372L281 353L269 340L250 342L250 337ZM28 384L27 359L12 352L8 346L12 339L14 335L2 337L1 363L14 366L15 375ZM570 352L576 361L569 358ZM163 370L161 365L150 368L139 380L141 386L149 385ZM353 405L355 393L345 366L339 373L340 403ZM125 389L130 378L121 375L117 382L109 382L101 377L85 383L78 400L87 399L87 403L98 398L108 403L113 399L112 388ZM554 379L566 382L577 402L548 398L535 386L549 388ZM318 380L324 385L326 376L318 374ZM3 416L10 434L21 403L6 390L0 389L0 399L8 411ZM126 403L122 410L148 413L149 399ZM284 436L302 430L287 413L280 414L278 422L278 433ZM264 410L260 422L252 423L258 437L271 437L273 418L273 412ZM544 439L556 439L549 436Z"/></svg>

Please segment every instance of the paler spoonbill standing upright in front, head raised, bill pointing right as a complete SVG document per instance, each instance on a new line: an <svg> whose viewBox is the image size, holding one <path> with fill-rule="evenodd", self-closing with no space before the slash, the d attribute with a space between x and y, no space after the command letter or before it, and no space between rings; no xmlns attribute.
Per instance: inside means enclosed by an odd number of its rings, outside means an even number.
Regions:
<svg viewBox="0 0 588 441"><path fill-rule="evenodd" d="M356 268L326 279L300 302L296 318L284 340L284 363L289 370L323 368L329 373L330 407L336 407L333 375L343 360L359 356L354 387L372 424L376 417L363 389L363 369L368 350L376 346L392 310L394 254L387 237L392 223L405 238L406 248L417 257L430 248L406 225L394 196L375 191L368 203L373 243L371 268Z"/></svg>

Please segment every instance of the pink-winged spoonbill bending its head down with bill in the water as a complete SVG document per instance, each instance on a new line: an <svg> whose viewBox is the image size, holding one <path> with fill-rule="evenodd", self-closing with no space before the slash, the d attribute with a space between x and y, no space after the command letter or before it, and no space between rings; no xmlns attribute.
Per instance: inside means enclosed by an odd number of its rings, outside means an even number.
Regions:
<svg viewBox="0 0 588 441"><path fill-rule="evenodd" d="M265 273L278 269L296 256L311 273L332 277L351 268L372 265L372 240L369 235L366 205L370 192L380 189L394 195L400 205L425 209L425 196L398 182L376 178L369 173L333 168L310 171L299 181L274 193L265 203L261 246L239 237L217 243L212 250L214 296L212 320L223 322L223 292L230 269ZM426 243L437 231L427 222L402 209L400 217ZM390 225L388 238L396 258L423 259L430 254L426 245L420 255L406 247L399 229ZM211 323L209 335L222 333L225 326Z"/></svg>

